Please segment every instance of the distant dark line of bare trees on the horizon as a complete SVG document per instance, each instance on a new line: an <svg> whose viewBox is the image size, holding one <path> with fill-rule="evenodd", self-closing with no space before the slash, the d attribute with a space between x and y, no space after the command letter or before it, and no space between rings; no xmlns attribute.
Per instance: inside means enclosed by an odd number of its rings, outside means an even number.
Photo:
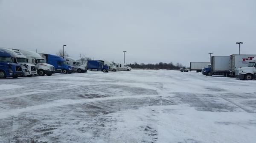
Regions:
<svg viewBox="0 0 256 143"><path fill-rule="evenodd" d="M173 64L172 62L170 63L165 63L165 62L159 62L156 64L137 64L134 62L133 64L128 64L131 68L138 68L138 69L153 69L153 70L160 70L160 69L165 69L165 70L179 70L180 68L186 68L180 63Z"/></svg>

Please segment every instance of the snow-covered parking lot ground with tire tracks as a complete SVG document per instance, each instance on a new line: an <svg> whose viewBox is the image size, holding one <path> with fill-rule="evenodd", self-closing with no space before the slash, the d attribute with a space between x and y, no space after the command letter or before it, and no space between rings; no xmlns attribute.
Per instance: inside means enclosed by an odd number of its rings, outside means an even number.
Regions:
<svg viewBox="0 0 256 143"><path fill-rule="evenodd" d="M255 143L255 84L173 70L0 79L0 143Z"/></svg>

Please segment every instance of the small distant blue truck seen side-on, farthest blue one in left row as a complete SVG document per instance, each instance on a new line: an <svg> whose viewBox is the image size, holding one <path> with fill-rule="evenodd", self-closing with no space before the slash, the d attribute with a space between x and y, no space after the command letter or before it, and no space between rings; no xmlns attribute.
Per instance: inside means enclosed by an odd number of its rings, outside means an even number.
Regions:
<svg viewBox="0 0 256 143"><path fill-rule="evenodd" d="M108 65L104 65L104 61L101 60L90 60L87 61L87 69L91 71L102 71L108 73Z"/></svg>

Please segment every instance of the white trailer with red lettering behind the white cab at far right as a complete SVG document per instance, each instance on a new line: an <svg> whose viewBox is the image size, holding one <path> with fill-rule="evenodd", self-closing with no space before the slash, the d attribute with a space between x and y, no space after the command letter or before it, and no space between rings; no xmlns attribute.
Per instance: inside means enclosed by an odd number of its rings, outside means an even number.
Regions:
<svg viewBox="0 0 256 143"><path fill-rule="evenodd" d="M240 67L247 67L250 60L256 55L230 55L230 76L238 74Z"/></svg>

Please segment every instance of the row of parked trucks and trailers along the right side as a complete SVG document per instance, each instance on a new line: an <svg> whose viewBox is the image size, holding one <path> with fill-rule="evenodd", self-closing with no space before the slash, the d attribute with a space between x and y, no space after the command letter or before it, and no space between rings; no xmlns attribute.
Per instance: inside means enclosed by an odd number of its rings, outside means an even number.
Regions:
<svg viewBox="0 0 256 143"><path fill-rule="evenodd" d="M195 62L191 62L192 70ZM241 80L256 79L256 55L212 56L210 63L201 63L201 72L206 76L223 75ZM197 63L198 64L198 63ZM194 66L194 67L193 67ZM198 67L199 68L199 67ZM197 70L200 72L200 70Z"/></svg>

